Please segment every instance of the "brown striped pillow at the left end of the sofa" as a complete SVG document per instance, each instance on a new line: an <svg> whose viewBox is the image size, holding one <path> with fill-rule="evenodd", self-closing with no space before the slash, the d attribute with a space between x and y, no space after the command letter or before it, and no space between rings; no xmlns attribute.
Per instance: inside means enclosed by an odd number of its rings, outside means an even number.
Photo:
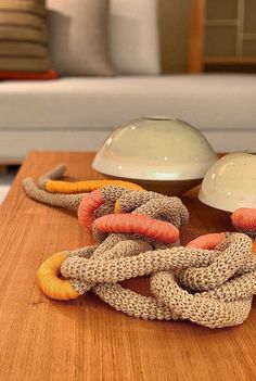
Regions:
<svg viewBox="0 0 256 381"><path fill-rule="evenodd" d="M44 0L0 0L0 71L47 72Z"/></svg>

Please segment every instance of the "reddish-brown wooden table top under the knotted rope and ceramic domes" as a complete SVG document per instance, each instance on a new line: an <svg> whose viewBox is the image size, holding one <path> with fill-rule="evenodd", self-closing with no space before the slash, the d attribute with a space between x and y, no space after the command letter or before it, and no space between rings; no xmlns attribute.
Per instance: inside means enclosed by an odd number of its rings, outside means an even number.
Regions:
<svg viewBox="0 0 256 381"><path fill-rule="evenodd" d="M256 305L240 327L210 330L189 321L144 321L89 293L46 297L36 271L50 254L91 244L75 215L29 200L21 181L65 163L75 179L100 178L92 153L31 153L0 208L0 380L256 380ZM183 198L191 219L181 241L230 230L228 214ZM149 294L149 279L125 282Z"/></svg>

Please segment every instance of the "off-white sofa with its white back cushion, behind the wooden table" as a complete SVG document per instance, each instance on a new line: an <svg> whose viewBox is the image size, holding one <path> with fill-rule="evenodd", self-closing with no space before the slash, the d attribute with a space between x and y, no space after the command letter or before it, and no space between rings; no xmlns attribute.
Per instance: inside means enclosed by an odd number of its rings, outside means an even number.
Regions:
<svg viewBox="0 0 256 381"><path fill-rule="evenodd" d="M256 150L256 77L157 75L157 0L129 4L111 8L111 50L123 75L0 82L0 163L35 149L94 151L113 128L146 115L191 123L217 151Z"/></svg>

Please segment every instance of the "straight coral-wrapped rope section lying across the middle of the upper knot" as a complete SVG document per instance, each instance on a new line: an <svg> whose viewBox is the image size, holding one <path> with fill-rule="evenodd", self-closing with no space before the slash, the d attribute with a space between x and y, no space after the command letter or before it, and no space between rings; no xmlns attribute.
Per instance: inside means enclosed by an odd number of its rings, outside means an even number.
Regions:
<svg viewBox="0 0 256 381"><path fill-rule="evenodd" d="M135 214L100 217L93 228L107 233L138 233L163 243L172 243L179 239L179 230L172 224Z"/></svg>

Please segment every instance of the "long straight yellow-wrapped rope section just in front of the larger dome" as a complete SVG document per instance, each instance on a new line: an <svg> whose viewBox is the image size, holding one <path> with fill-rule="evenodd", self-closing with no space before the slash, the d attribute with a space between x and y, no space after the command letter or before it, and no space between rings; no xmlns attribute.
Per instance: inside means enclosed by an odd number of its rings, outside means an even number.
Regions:
<svg viewBox="0 0 256 381"><path fill-rule="evenodd" d="M118 186L131 190L143 190L143 188L137 183L121 180L88 180L76 182L49 180L46 183L46 190L51 193L89 193L105 186Z"/></svg>

